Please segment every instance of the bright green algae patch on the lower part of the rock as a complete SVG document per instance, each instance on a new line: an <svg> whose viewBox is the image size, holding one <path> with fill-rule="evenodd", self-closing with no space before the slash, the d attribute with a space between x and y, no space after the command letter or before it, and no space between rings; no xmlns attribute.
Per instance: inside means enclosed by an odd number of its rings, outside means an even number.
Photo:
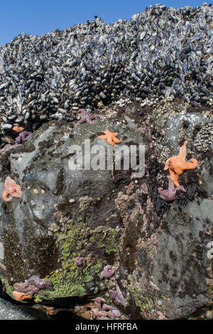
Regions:
<svg viewBox="0 0 213 334"><path fill-rule="evenodd" d="M45 296L35 295L35 302L87 295L87 283L99 280L98 276L103 267L102 262L89 257L89 250L100 247L104 248L107 254L117 252L119 239L115 238L116 232L111 227L103 227L102 232L95 232L84 223L80 227L70 225L67 232L57 232L55 244L60 250L59 268L45 277L53 283L54 291L45 291ZM77 267L76 257L85 258L84 268Z"/></svg>

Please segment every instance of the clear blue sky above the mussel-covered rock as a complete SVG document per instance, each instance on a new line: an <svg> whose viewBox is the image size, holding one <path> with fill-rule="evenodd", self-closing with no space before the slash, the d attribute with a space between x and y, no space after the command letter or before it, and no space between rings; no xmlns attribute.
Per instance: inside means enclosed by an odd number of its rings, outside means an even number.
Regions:
<svg viewBox="0 0 213 334"><path fill-rule="evenodd" d="M201 6L204 0L165 0L166 6ZM211 4L212 1L206 1ZM94 15L107 23L119 18L131 18L143 11L149 4L159 4L160 0L1 0L0 45L9 43L18 34L32 35L50 33L56 28L65 29L92 21Z"/></svg>

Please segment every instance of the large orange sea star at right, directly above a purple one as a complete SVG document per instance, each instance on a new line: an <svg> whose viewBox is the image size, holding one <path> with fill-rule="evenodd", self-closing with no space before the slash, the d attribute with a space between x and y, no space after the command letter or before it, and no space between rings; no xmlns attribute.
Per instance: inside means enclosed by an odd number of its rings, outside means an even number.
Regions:
<svg viewBox="0 0 213 334"><path fill-rule="evenodd" d="M172 156L171 158L168 158L167 161L165 161L165 167L164 171L167 171L169 169L170 171L170 178L176 185L176 187L179 186L178 178L179 176L189 169L195 169L197 167L197 160L196 159L190 159L192 162L185 161L186 156L186 146L187 141L180 147L180 153L178 156Z"/></svg>

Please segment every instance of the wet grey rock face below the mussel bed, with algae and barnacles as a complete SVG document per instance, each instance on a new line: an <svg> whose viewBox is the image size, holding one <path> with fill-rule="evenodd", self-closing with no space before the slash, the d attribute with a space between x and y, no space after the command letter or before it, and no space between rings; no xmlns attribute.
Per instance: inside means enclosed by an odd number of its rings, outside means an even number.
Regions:
<svg viewBox="0 0 213 334"><path fill-rule="evenodd" d="M211 109L180 101L153 108L132 103L100 114L97 124L76 128L47 123L1 154L1 193L7 176L23 192L10 203L1 198L6 292L12 296L13 284L36 275L53 291L33 295L31 303L65 307L83 318L175 319L207 310L213 301ZM106 129L118 132L121 143L114 148L98 139ZM121 170L70 170L70 146L83 148L86 139L114 150L145 144L144 176L133 178L122 163ZM158 193L168 183L163 167L185 140L187 160L196 158L198 166L180 176L186 192L169 203ZM81 164L79 153L75 158ZM79 258L84 265L77 265ZM103 276L106 267L113 271Z"/></svg>

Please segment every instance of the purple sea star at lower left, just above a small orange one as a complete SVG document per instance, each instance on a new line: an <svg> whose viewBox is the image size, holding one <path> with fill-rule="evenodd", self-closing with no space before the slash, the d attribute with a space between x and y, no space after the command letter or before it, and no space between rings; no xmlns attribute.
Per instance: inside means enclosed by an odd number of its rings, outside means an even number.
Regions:
<svg viewBox="0 0 213 334"><path fill-rule="evenodd" d="M35 293L45 296L42 290L53 291L53 284L47 279L39 279L38 276L31 276L25 283L13 284L13 288L17 292L28 293L29 296L33 296Z"/></svg>

